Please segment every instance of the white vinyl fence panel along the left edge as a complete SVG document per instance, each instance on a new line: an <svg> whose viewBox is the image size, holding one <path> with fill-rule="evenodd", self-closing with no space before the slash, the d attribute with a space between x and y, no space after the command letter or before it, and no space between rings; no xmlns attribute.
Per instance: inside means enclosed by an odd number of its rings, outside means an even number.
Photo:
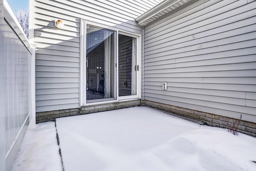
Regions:
<svg viewBox="0 0 256 171"><path fill-rule="evenodd" d="M34 56L16 17L6 0L0 0L1 35L1 167L8 171L32 118L32 72ZM2 17L3 16L3 17ZM3 40L3 41L2 41ZM3 130L4 129L4 130ZM5 161L2 161L5 160ZM3 166L4 165L4 166Z"/></svg>

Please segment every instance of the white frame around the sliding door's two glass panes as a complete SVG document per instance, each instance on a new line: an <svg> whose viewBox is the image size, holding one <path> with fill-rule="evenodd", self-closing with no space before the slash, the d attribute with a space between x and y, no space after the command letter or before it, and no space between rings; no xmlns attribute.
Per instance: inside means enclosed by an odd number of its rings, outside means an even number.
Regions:
<svg viewBox="0 0 256 171"><path fill-rule="evenodd" d="M114 61L116 62L116 68L114 69L115 74L114 74L114 84L115 84L115 90L116 91L116 99L111 99L111 100L104 100L102 101L97 101L97 102L91 102L91 103L86 103L86 49L83 47L86 47L86 25L89 24L91 26L96 26L100 28L104 28L107 30L112 30L116 32L116 38L114 40L114 45L115 50L116 50L116 56L114 56ZM118 34L130 36L136 38L136 56L137 56L137 65L139 66L139 70L137 72L137 77L136 77L136 88L137 88L137 94L136 95L128 95L128 96L118 96ZM126 30L122 29L117 29L113 28L111 26L105 26L102 24L97 24L94 22L88 22L84 19L81 19L80 21L80 87L79 87L79 107L81 106L86 106L86 105L97 105L97 104L104 104L104 103L114 103L118 101L128 101L128 100L134 100L134 99L140 99L141 98L141 69L142 69L142 63L141 63L141 41L142 41L142 35L137 34L137 33L132 33L132 32L127 32Z"/></svg>

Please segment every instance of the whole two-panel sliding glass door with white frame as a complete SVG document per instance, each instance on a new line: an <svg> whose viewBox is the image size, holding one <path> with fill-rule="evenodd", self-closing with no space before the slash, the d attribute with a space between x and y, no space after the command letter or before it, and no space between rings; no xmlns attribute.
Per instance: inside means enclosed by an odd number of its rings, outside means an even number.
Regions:
<svg viewBox="0 0 256 171"><path fill-rule="evenodd" d="M81 106L139 98L140 37L84 23Z"/></svg>

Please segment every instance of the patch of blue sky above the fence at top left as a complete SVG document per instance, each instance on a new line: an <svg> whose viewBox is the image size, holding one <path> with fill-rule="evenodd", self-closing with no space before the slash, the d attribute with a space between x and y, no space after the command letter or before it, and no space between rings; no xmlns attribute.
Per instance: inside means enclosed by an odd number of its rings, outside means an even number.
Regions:
<svg viewBox="0 0 256 171"><path fill-rule="evenodd" d="M7 0L7 2L14 14L16 12L18 15L21 11L28 12L29 0Z"/></svg>

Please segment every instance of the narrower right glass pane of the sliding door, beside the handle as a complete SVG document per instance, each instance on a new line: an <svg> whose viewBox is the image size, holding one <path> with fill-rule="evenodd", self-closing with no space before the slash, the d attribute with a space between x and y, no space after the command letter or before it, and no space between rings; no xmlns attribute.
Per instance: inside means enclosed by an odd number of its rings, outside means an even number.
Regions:
<svg viewBox="0 0 256 171"><path fill-rule="evenodd" d="M136 95L136 38L118 35L118 95Z"/></svg>

